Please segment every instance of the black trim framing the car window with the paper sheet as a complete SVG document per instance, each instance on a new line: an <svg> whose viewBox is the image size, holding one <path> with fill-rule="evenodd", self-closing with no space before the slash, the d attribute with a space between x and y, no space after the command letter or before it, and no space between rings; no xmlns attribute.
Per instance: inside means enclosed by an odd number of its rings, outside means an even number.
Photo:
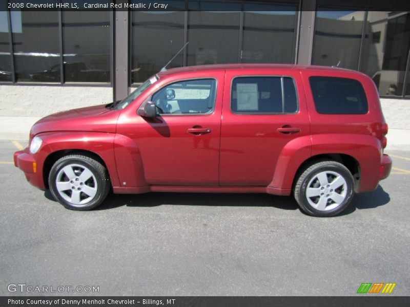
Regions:
<svg viewBox="0 0 410 307"><path fill-rule="evenodd" d="M273 78L280 78L280 86L281 86L281 92L282 92L282 110L283 112L234 112L233 108L232 108L232 89L233 89L233 83L234 80L237 78L250 78L250 77L256 77L256 78L260 78L260 77L273 77ZM283 96L283 92L284 92L284 87L283 87L283 78L291 78L293 81L293 85L295 86L295 94L296 94L296 111L292 112L292 113L286 113L284 112L284 96ZM295 115L298 114L300 111L300 104L299 104L299 95L298 95L298 87L296 85L295 82L295 78L293 76L289 76L289 75L243 75L243 76L235 76L232 78L231 80L231 90L230 90L230 95L229 95L229 108L231 111L231 114L235 114L235 115Z"/></svg>

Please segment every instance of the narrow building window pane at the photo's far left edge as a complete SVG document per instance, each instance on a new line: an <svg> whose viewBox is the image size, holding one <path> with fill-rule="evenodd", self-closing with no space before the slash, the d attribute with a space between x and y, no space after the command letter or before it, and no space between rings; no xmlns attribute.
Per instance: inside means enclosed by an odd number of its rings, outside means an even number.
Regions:
<svg viewBox="0 0 410 307"><path fill-rule="evenodd" d="M3 5L5 6L6 3ZM0 6L3 8L3 6ZM0 82L12 81L7 12L0 11Z"/></svg>

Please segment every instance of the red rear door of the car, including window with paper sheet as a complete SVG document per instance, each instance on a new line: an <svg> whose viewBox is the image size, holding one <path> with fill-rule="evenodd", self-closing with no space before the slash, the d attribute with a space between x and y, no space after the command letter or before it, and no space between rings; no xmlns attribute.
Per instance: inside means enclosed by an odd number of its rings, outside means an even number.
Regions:
<svg viewBox="0 0 410 307"><path fill-rule="evenodd" d="M310 134L298 70L226 72L219 184L268 186L279 155Z"/></svg>

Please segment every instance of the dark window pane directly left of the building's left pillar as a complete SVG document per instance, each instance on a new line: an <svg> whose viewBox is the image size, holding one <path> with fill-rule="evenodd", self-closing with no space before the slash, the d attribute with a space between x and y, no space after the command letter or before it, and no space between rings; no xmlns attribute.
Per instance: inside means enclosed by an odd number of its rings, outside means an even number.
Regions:
<svg viewBox="0 0 410 307"><path fill-rule="evenodd" d="M66 82L110 82L110 15L104 11L63 12Z"/></svg>

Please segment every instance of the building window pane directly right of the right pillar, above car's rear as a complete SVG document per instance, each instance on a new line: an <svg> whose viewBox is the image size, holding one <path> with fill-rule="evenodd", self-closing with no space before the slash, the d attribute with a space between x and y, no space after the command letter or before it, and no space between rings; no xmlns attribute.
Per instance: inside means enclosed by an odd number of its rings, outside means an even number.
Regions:
<svg viewBox="0 0 410 307"><path fill-rule="evenodd" d="M318 9L312 64L357 70L364 12Z"/></svg>

